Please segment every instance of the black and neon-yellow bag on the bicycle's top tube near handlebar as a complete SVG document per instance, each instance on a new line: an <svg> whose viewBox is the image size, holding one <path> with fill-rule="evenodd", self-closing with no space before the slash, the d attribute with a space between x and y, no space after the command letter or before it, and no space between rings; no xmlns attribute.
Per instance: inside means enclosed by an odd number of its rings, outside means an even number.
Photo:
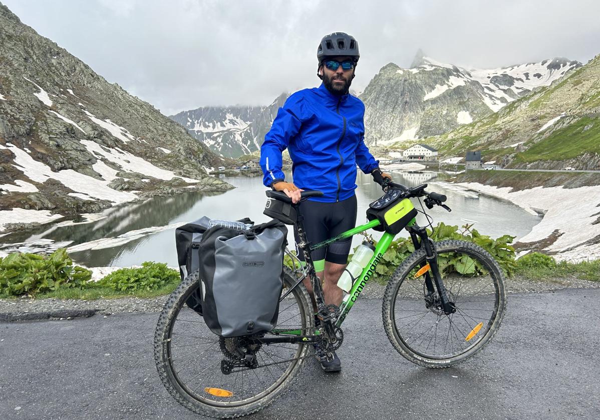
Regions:
<svg viewBox="0 0 600 420"><path fill-rule="evenodd" d="M417 215L417 211L408 198L401 199L399 189L390 189L378 200L369 204L368 220L379 220L381 225L374 227L376 231L397 234L404 229Z"/></svg>

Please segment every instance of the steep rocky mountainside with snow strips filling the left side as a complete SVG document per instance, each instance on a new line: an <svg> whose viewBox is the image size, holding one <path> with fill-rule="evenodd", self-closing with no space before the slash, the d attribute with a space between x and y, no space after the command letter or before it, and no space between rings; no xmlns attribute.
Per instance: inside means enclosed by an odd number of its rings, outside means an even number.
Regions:
<svg viewBox="0 0 600 420"><path fill-rule="evenodd" d="M0 4L0 228L180 191L223 159ZM15 209L15 210L12 210Z"/></svg>

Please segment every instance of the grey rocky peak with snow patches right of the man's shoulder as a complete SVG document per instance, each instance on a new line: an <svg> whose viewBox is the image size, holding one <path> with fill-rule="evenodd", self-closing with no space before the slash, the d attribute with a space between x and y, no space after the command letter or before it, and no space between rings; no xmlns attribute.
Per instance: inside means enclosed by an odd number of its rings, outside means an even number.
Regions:
<svg viewBox="0 0 600 420"><path fill-rule="evenodd" d="M491 70L443 64L420 50L412 68L390 63L365 88L365 141L430 137L490 115L581 66L565 58Z"/></svg>

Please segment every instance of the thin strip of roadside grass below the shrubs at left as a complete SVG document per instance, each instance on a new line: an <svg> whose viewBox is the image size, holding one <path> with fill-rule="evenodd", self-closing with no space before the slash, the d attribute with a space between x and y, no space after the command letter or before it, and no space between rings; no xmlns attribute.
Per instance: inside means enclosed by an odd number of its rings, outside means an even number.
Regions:
<svg viewBox="0 0 600 420"><path fill-rule="evenodd" d="M62 288L52 292L44 292L35 295L36 299L81 299L81 300L96 300L100 298L124 298L124 297L138 297L138 298L154 298L157 296L163 296L170 294L179 285L180 281L176 280L170 282L161 288L156 290L142 290L136 291L135 293L125 294L123 292L115 291L107 287L90 287L86 289L78 288ZM18 296L11 296L6 294L0 294L0 299L19 299Z"/></svg>

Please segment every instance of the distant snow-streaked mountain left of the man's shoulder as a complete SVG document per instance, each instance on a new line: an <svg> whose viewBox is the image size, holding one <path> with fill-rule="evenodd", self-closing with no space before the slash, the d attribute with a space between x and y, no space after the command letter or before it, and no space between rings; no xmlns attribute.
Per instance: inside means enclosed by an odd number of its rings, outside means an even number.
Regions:
<svg viewBox="0 0 600 420"><path fill-rule="evenodd" d="M169 118L218 155L238 158L260 149L287 96L282 93L266 107L201 107Z"/></svg>

